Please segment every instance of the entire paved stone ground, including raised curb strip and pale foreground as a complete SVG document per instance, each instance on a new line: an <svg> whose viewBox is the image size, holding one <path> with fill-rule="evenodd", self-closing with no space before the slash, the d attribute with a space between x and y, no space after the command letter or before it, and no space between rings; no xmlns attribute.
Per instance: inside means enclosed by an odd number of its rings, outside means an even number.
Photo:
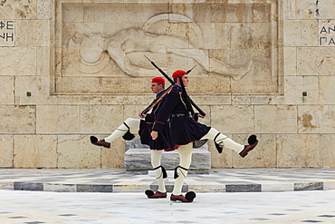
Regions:
<svg viewBox="0 0 335 224"><path fill-rule="evenodd" d="M149 200L155 188L152 171L0 169L0 223L335 223L335 169L190 174L192 203Z"/></svg>

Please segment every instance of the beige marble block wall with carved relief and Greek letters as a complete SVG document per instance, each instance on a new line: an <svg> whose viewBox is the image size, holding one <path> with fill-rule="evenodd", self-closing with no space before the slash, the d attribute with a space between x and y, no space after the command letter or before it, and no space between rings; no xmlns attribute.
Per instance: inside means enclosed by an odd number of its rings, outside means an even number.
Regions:
<svg viewBox="0 0 335 224"><path fill-rule="evenodd" d="M91 145L137 117L159 76L190 73L201 121L244 159L213 168L335 167L333 0L0 1L0 167L120 168L125 142Z"/></svg>

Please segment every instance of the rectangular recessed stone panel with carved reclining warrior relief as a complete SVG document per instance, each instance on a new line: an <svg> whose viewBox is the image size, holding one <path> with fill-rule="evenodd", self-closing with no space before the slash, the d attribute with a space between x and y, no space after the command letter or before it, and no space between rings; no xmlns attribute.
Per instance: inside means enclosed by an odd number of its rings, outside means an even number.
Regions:
<svg viewBox="0 0 335 224"><path fill-rule="evenodd" d="M276 2L55 7L56 93L145 93L159 73L144 54L167 73L197 64L190 93L208 93L208 77L225 83L213 93L280 93ZM134 88L120 89L129 78Z"/></svg>

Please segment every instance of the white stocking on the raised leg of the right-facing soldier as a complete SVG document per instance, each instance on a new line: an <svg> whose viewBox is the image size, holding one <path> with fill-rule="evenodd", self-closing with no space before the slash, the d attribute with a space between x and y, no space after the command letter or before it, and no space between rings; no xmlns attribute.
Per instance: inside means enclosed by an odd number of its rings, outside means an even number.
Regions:
<svg viewBox="0 0 335 224"><path fill-rule="evenodd" d="M215 136L219 134L216 139ZM239 143L236 143L235 141L229 139L228 137L226 137L224 134L220 133L219 131L217 131L215 128L211 128L208 133L206 133L206 135L204 137L202 137L201 139L204 140L213 140L215 139L215 142L217 144L219 144L220 146L224 146L227 149L231 149L236 151L237 153L240 153L241 151L244 150L244 145L241 145Z"/></svg>

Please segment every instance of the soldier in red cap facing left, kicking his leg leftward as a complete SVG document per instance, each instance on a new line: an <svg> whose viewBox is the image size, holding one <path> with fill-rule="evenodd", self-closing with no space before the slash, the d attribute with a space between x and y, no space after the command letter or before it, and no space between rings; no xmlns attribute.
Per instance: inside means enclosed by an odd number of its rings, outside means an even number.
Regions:
<svg viewBox="0 0 335 224"><path fill-rule="evenodd" d="M152 107L151 112L147 113L147 109L144 112L139 113L140 118L144 120L128 118L123 122L120 127L113 131L110 136L104 138L100 141L95 136L91 136L91 143L98 146L103 146L105 148L110 148L110 142L118 139L123 136L125 140L132 140L135 136L131 132L139 131L139 137L142 144L146 144L150 147L151 150L151 164L155 170L156 179L158 180L158 191L156 193L152 190L147 190L146 194L149 199L157 198L167 198L167 190L165 188L164 179L167 178L167 172L164 167L161 166L160 159L163 150L170 148L168 142L169 135L168 132L160 135L158 139L152 140L150 136L151 128L153 122L155 122L156 114L159 110L161 103L164 101L164 96L171 90L172 86L168 90L164 89L165 80L161 77L156 77L151 80L151 90L152 93L157 93L157 97L154 102L152 102L149 107ZM168 131L168 128L165 129Z"/></svg>

